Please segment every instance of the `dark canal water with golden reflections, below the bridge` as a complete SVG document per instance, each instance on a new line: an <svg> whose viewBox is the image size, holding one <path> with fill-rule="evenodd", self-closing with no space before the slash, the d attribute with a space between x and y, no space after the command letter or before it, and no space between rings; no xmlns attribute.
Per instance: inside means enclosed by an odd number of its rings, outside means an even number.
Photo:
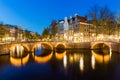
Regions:
<svg viewBox="0 0 120 80"><path fill-rule="evenodd" d="M17 46L0 56L0 80L120 80L120 54L41 47L26 53Z"/></svg>

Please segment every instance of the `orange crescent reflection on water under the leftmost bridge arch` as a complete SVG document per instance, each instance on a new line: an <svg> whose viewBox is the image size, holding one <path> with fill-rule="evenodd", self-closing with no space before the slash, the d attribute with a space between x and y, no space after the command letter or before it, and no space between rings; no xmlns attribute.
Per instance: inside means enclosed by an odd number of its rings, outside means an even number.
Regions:
<svg viewBox="0 0 120 80"><path fill-rule="evenodd" d="M10 57L10 62L12 65L20 67L22 65L25 65L29 60L29 54L23 58L14 58L14 57Z"/></svg>

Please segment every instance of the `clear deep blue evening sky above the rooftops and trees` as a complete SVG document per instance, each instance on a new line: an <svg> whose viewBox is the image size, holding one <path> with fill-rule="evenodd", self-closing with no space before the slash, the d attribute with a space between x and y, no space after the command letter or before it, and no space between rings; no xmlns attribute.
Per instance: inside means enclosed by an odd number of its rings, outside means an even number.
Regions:
<svg viewBox="0 0 120 80"><path fill-rule="evenodd" d="M0 0L0 21L41 34L53 19L84 16L94 5L108 6L114 13L120 10L120 0Z"/></svg>

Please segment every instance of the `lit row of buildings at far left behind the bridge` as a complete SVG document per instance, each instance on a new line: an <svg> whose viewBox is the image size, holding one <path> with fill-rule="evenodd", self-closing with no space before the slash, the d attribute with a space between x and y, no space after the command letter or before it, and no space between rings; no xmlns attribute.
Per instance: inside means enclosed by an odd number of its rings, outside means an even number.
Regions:
<svg viewBox="0 0 120 80"><path fill-rule="evenodd" d="M0 33L1 41L22 41L27 39L25 30L17 25L0 25L3 28L3 34ZM29 31L30 35L34 35L34 32Z"/></svg>

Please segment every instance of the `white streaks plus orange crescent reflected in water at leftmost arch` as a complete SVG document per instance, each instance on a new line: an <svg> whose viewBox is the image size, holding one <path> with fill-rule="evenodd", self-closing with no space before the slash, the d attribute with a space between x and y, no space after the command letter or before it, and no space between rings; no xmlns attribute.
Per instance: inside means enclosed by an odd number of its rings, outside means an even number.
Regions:
<svg viewBox="0 0 120 80"><path fill-rule="evenodd" d="M23 46L15 46L10 50L10 62L14 66L25 65L29 60L29 54L24 53Z"/></svg>

